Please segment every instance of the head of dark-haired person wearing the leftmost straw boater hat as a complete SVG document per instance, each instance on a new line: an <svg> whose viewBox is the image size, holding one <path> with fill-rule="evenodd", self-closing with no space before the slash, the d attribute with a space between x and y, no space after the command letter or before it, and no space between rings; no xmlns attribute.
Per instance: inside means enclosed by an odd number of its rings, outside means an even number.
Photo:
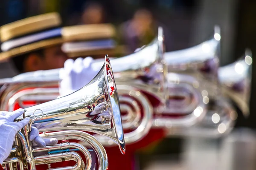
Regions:
<svg viewBox="0 0 256 170"><path fill-rule="evenodd" d="M62 68L67 55L61 50L61 18L42 14L0 27L0 61L11 60L19 73Z"/></svg>

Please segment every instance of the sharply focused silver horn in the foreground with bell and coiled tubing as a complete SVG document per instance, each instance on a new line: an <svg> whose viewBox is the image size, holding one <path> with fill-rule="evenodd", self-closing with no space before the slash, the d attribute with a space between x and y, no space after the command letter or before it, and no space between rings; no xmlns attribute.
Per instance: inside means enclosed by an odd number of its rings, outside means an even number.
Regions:
<svg viewBox="0 0 256 170"><path fill-rule="evenodd" d="M51 82L52 83L52 82ZM2 93L1 102L4 103L2 110L13 110L12 102L22 96L26 96L26 87L29 90L32 82L10 83ZM8 92L7 92L8 91ZM49 89L50 92L51 89ZM5 99L9 99L6 100ZM90 111L86 105L96 103L99 109ZM15 121L30 117L29 125L26 125L19 133L14 142L12 153L3 164L6 169L30 169L35 170L35 165L48 164L48 169L58 170L90 170L95 169L92 165L92 157L86 147L79 143L68 142L69 139L76 139L86 142L95 150L99 169L108 169L108 157L102 144L92 135L84 132L97 133L108 137L118 144L122 154L125 153L125 140L122 129L121 113L119 108L119 98L116 91L116 84L108 57L105 57L105 64L102 66L96 77L80 90L49 102L26 108L23 116ZM31 126L39 125L40 136L54 137L62 140L60 144L47 146L46 148L32 147L29 141ZM81 159L77 152L84 154L86 162ZM60 161L76 161L75 166L51 168L50 164Z"/></svg>

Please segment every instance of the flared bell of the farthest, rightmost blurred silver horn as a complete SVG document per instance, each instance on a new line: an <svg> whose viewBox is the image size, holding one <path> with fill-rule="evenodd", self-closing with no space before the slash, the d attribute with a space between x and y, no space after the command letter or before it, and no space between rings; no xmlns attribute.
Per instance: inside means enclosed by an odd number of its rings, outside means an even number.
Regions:
<svg viewBox="0 0 256 170"><path fill-rule="evenodd" d="M252 53L246 49L244 57L218 71L222 91L236 103L244 116L249 116L250 112L252 62Z"/></svg>

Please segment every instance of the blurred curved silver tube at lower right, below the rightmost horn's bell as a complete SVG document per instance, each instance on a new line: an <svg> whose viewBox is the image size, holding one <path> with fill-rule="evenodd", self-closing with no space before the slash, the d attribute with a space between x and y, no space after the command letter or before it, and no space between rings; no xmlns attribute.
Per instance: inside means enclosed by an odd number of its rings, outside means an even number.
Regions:
<svg viewBox="0 0 256 170"><path fill-rule="evenodd" d="M228 134L234 126L237 113L227 100L217 97L208 113L197 125L190 128L170 129L168 136L194 136L218 138Z"/></svg>

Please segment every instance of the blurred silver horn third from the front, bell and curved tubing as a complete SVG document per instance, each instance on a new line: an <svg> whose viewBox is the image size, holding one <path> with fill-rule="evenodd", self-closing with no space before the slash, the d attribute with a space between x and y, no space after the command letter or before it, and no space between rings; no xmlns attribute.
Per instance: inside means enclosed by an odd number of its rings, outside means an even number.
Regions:
<svg viewBox="0 0 256 170"><path fill-rule="evenodd" d="M165 127L171 131L170 133L174 133L173 131L179 131L177 130L179 128L190 128L202 121L207 113L211 96L220 94L216 86L218 84L216 51L219 44L220 30L215 26L215 36L211 40L195 47L164 54L169 72L167 76L169 99L165 106L155 109L155 113L160 116L154 121L154 127ZM183 126L179 127L179 125Z"/></svg>

